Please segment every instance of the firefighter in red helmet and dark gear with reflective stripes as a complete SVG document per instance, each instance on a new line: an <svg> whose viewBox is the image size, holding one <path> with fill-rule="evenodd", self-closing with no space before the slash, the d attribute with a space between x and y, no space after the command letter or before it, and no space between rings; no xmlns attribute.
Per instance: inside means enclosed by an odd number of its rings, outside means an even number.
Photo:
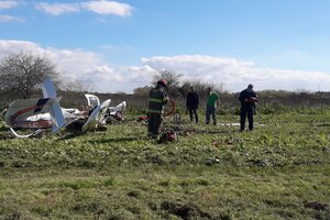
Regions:
<svg viewBox="0 0 330 220"><path fill-rule="evenodd" d="M168 102L168 96L165 91L167 82L160 79L156 87L150 90L147 99L147 135L152 139L157 139L163 121L163 109Z"/></svg>

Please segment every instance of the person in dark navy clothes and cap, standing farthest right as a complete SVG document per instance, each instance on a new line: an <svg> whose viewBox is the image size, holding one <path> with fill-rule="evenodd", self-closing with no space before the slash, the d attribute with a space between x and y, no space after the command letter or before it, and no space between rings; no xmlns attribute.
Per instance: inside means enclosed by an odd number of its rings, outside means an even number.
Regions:
<svg viewBox="0 0 330 220"><path fill-rule="evenodd" d="M250 84L246 89L240 92L239 100L241 101L241 131L245 129L245 119L248 116L249 130L253 130L253 113L257 102L257 96L253 91L253 85Z"/></svg>

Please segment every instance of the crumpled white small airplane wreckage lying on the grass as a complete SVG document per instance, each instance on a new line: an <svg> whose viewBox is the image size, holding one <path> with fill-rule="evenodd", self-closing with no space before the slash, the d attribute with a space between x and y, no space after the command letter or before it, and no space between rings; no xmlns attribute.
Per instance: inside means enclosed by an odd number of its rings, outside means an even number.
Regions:
<svg viewBox="0 0 330 220"><path fill-rule="evenodd" d="M97 96L86 94L89 110L66 109L59 106L53 82L46 78L42 85L44 98L20 99L11 102L2 112L4 121L16 138L30 138L52 129L56 133L63 128L81 133L107 123L110 117L122 116L127 102L110 107L111 99L100 103ZM34 130L29 134L19 134L14 129Z"/></svg>

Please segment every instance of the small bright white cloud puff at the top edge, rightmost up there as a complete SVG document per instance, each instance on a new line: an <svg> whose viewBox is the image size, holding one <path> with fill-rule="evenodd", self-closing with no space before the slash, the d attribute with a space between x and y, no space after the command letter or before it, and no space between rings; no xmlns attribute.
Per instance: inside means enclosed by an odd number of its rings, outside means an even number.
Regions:
<svg viewBox="0 0 330 220"><path fill-rule="evenodd" d="M129 16L133 10L133 8L127 3L107 0L84 2L81 7L98 14L114 14L119 16Z"/></svg>

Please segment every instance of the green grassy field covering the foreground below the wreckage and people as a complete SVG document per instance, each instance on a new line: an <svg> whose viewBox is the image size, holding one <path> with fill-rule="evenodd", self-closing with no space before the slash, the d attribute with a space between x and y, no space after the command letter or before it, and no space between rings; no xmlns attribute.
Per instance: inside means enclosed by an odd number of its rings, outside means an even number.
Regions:
<svg viewBox="0 0 330 220"><path fill-rule="evenodd" d="M329 119L258 116L253 132L166 120L179 135L162 144L134 117L29 140L3 125L0 219L330 219Z"/></svg>

